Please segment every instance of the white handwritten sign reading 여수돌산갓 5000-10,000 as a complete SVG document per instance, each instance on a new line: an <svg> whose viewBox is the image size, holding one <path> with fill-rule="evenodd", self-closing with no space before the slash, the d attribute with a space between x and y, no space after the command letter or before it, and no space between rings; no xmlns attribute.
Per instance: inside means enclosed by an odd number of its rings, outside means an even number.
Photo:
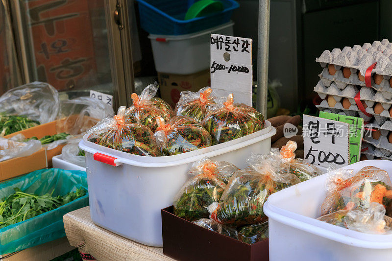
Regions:
<svg viewBox="0 0 392 261"><path fill-rule="evenodd" d="M252 106L252 39L211 35L211 88Z"/></svg>

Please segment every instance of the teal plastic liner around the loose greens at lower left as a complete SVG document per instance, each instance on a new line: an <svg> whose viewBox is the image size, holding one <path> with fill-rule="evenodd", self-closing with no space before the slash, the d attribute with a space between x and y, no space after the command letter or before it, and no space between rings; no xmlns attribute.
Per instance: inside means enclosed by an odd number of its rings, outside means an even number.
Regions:
<svg viewBox="0 0 392 261"><path fill-rule="evenodd" d="M20 188L23 192L65 195L80 187L87 190L84 171L41 169L0 183L0 201ZM0 255L16 252L65 237L63 215L89 205L88 193L57 209L0 229Z"/></svg>

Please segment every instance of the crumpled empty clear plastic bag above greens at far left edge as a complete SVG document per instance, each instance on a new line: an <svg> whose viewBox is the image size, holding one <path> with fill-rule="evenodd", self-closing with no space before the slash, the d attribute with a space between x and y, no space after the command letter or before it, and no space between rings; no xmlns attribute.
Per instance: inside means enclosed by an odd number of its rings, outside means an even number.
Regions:
<svg viewBox="0 0 392 261"><path fill-rule="evenodd" d="M25 116L41 124L55 120L58 111L58 92L45 82L27 83L0 97L1 113Z"/></svg>

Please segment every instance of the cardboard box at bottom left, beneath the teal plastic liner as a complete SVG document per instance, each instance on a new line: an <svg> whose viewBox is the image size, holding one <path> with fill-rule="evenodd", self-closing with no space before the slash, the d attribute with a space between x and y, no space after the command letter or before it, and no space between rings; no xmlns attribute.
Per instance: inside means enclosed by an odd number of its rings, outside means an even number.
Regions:
<svg viewBox="0 0 392 261"><path fill-rule="evenodd" d="M67 237L33 246L22 251L0 255L0 261L37 261L52 260L75 249L68 242Z"/></svg>

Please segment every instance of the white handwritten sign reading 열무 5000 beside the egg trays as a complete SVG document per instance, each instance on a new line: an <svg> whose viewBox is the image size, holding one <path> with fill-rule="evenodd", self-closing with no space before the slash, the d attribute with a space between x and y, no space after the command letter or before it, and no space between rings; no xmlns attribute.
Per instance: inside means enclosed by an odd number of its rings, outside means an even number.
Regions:
<svg viewBox="0 0 392 261"><path fill-rule="evenodd" d="M303 116L304 159L323 167L349 164L349 124Z"/></svg>

